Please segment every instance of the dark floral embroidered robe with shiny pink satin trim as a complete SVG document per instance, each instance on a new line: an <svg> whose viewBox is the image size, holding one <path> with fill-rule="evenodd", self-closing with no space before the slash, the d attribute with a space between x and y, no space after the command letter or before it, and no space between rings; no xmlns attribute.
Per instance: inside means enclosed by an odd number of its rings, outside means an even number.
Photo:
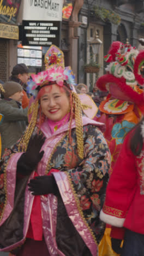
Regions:
<svg viewBox="0 0 144 256"><path fill-rule="evenodd" d="M100 208L105 199L105 190L110 167L110 153L103 133L99 130L102 124L83 117L84 158L77 154L75 121L72 123L71 145L67 145L68 124L60 127L53 134L47 123L41 127L46 137L41 150L44 156L38 164L37 173L44 175L52 168L67 214L79 232L92 255L97 255L97 244L104 233L104 223L99 219ZM16 165L22 153L17 153L17 145L5 153L5 167L1 168L0 216L1 225L8 218L14 207L16 191ZM68 148L68 151L67 151ZM73 157L72 157L73 151ZM67 152L67 154L66 154ZM10 155L11 154L11 155ZM31 174L32 178L34 173ZM6 180L7 178L7 180ZM30 179L29 178L29 179ZM22 237L0 251L10 251L25 241L34 196L28 187L25 190L24 213L20 211ZM43 216L43 235L50 255L64 256L56 242L57 197L43 195L41 214ZM22 214L24 215L22 218ZM14 233L14 232L13 232Z"/></svg>

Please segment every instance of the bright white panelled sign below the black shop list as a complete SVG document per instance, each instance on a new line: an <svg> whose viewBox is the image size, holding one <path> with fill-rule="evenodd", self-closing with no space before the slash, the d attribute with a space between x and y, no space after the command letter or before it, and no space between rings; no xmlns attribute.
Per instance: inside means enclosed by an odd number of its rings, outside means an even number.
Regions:
<svg viewBox="0 0 144 256"><path fill-rule="evenodd" d="M27 66L42 66L42 47L40 46L22 46L17 47L17 63L25 63Z"/></svg>

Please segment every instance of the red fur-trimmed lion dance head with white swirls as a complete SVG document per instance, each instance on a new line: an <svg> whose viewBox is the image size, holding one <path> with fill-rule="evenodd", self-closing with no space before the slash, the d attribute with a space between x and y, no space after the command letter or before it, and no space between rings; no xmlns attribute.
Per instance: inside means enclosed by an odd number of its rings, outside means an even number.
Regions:
<svg viewBox="0 0 144 256"><path fill-rule="evenodd" d="M104 59L109 65L106 67L107 73L97 80L97 87L101 91L109 91L119 100L143 104L143 93L137 85L144 82L140 74L144 51L139 53L128 43L113 42Z"/></svg>

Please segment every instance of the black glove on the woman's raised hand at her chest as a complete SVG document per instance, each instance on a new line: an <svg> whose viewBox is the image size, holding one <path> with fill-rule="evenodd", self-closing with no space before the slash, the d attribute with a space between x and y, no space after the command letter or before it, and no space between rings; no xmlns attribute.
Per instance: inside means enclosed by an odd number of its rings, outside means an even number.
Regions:
<svg viewBox="0 0 144 256"><path fill-rule="evenodd" d="M44 150L40 152L45 142L43 135L35 135L29 139L26 153L23 153L17 161L17 172L29 175L43 158ZM40 153L39 153L40 152Z"/></svg>

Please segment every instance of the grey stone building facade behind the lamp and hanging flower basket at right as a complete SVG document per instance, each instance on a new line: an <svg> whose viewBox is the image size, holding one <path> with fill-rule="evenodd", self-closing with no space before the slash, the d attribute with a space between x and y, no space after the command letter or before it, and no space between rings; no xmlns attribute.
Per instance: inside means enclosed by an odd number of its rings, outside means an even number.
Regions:
<svg viewBox="0 0 144 256"><path fill-rule="evenodd" d="M91 51L89 42L94 38L95 31L103 42L97 60L101 66L99 75L103 74L104 56L115 40L138 45L137 39L144 38L144 1L136 0L84 0L79 12L79 43L77 66L77 82L86 83L93 89L97 74L88 74L83 65L89 61ZM95 56L93 56L95 58Z"/></svg>

